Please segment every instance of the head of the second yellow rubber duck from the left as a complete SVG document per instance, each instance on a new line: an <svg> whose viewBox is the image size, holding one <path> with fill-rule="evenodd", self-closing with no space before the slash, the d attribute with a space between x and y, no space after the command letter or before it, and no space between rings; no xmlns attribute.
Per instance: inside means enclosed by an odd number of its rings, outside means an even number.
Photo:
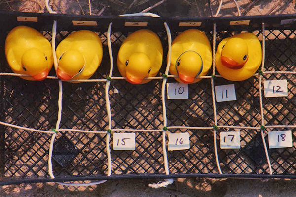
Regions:
<svg viewBox="0 0 296 197"><path fill-rule="evenodd" d="M85 67L85 58L78 50L68 50L58 60L57 76L64 80L70 80L81 74Z"/></svg>

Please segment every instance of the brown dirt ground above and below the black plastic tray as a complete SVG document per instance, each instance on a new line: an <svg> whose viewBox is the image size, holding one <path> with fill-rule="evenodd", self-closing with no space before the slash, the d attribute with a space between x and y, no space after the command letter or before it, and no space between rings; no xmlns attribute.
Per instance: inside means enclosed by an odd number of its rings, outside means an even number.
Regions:
<svg viewBox="0 0 296 197"><path fill-rule="evenodd" d="M119 15L136 13L153 6L160 0L91 0L93 15ZM209 6L210 2L211 6ZM242 15L296 13L295 0L237 0ZM89 15L88 0L51 0L54 11L64 14ZM211 16L218 8L218 0L166 0L149 10L165 17ZM44 0L0 0L1 10L46 12ZM211 7L211 8L210 8ZM232 0L224 0L219 16L237 15ZM295 180L251 180L179 178L161 189L148 187L159 179L132 179L107 181L89 187L66 187L57 183L36 183L1 186L0 196L99 196L99 197L263 197L295 196Z"/></svg>

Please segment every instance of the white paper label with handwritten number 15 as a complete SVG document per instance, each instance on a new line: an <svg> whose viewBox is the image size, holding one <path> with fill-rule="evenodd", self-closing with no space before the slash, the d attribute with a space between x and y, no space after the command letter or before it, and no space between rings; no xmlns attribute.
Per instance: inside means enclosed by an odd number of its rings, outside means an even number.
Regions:
<svg viewBox="0 0 296 197"><path fill-rule="evenodd" d="M113 150L135 150L136 135L135 133L114 133Z"/></svg>

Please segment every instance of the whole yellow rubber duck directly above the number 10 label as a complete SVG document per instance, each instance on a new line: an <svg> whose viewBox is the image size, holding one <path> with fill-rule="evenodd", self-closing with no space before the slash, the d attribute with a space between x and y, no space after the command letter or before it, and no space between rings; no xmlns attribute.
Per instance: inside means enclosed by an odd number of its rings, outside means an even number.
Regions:
<svg viewBox="0 0 296 197"><path fill-rule="evenodd" d="M170 73L182 83L196 83L212 66L212 49L205 33L189 29L180 33L172 42Z"/></svg>

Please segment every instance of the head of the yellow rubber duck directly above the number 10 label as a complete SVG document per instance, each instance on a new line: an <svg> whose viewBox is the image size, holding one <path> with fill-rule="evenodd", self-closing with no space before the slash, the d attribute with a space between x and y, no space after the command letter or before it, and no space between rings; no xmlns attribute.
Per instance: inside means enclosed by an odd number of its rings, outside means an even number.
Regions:
<svg viewBox="0 0 296 197"><path fill-rule="evenodd" d="M195 51L182 53L176 61L176 70L182 83L193 83L203 68L202 58Z"/></svg>

